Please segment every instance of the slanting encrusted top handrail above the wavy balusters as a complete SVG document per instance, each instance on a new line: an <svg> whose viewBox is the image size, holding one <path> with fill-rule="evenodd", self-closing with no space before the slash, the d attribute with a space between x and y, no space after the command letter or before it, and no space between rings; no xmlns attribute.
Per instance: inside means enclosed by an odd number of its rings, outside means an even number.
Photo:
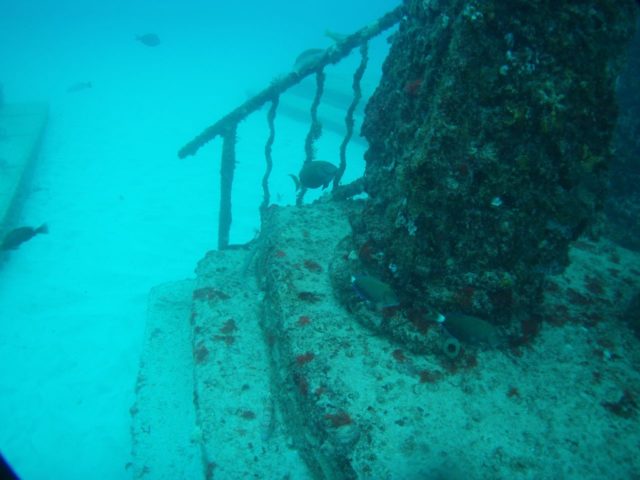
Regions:
<svg viewBox="0 0 640 480"><path fill-rule="evenodd" d="M292 86L300 83L304 78L316 73L329 64L338 63L349 55L351 50L360 46L367 40L377 36L384 30L391 28L398 23L404 15L404 7L399 6L389 13L386 13L372 24L358 30L327 48L324 53L315 61L304 65L300 70L293 71L284 77L274 80L269 87L254 95L238 108L228 113L213 125L207 127L189 143L178 151L178 157L185 158L195 155L196 152L219 135L224 135L230 128L235 128L238 123L244 120L249 114L260 109L266 102L285 92Z"/></svg>

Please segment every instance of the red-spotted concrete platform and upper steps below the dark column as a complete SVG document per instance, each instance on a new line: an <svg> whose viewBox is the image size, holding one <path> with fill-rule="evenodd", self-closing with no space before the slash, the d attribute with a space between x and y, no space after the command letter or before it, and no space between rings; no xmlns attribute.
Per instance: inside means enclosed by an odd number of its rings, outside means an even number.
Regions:
<svg viewBox="0 0 640 480"><path fill-rule="evenodd" d="M640 471L640 346L611 314L640 283L637 254L581 242L550 285L549 322L527 325L530 337L500 350L465 345L450 361L407 348L379 328L389 312L332 279L361 268L345 250L346 218L359 208L273 207L252 250L200 262L190 311L162 304L193 329L179 351L192 349L192 442L204 478L596 480ZM435 322L404 319L417 336L442 335Z"/></svg>

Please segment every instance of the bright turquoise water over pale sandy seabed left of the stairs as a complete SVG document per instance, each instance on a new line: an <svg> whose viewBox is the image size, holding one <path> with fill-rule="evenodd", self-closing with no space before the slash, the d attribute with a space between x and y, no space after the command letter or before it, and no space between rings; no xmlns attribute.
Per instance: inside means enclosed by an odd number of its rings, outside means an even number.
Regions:
<svg viewBox="0 0 640 480"><path fill-rule="evenodd" d="M21 477L129 477L147 292L192 277L216 246L220 143L187 160L177 150L301 51L329 46L325 29L354 31L396 4L1 0L5 99L50 107L19 218L50 233L0 270L0 451ZM135 41L148 32L160 45ZM372 44L369 93L385 51ZM345 63L328 70L338 90L357 58ZM91 88L67 92L79 82ZM290 203L308 125L278 128L272 194ZM239 138L235 242L259 228L263 114ZM339 141L327 132L319 156L336 158ZM365 146L351 148L355 176Z"/></svg>

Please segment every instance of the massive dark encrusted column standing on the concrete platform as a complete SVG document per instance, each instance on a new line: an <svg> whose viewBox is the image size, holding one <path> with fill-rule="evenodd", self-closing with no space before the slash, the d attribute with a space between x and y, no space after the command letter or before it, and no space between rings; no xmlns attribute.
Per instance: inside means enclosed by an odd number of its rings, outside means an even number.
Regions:
<svg viewBox="0 0 640 480"><path fill-rule="evenodd" d="M509 323L604 200L631 0L406 1L366 109L368 273Z"/></svg>

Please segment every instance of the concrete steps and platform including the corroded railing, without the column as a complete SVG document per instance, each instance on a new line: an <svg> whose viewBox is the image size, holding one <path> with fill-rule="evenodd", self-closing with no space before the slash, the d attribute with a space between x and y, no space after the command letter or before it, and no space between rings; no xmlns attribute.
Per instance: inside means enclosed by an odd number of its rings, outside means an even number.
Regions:
<svg viewBox="0 0 640 480"><path fill-rule="evenodd" d="M344 200L359 187L339 185L340 172L366 67L366 42L402 15L398 8L347 36L180 150L184 158L223 138L219 249L199 262L195 280L150 293L131 408L134 478L595 480L607 477L610 464L633 468L629 459L636 456L640 431L600 407L619 399L620 385L640 384L629 333L615 328L617 320L603 318L589 329L579 320L567 321L543 328L532 346L506 353L469 349L464 362L452 363L370 328L385 317L354 299L348 274L357 272L359 263L347 219L357 216L362 204ZM354 74L332 199L304 205L302 191L297 206L270 205L280 94L315 74L305 143L305 161L311 161L321 131L323 68L354 48L360 48L362 60ZM260 236L231 248L236 128L269 102ZM572 250L571 268L547 292L545 318L558 312L573 319L602 317L612 305L624 305L640 281L640 272L620 273L618 265L640 264L638 255L584 245ZM603 248L612 249L617 263L601 260ZM589 249L597 255L589 256ZM604 279L606 298L600 303L582 282L585 275ZM570 291L589 302L568 304ZM438 334L436 325L423 328L416 326L414 334ZM593 354L603 335L616 348L615 363L603 365ZM559 375L559 369L570 373ZM594 371L606 371L598 385ZM590 387L574 386L579 395L573 395L568 378ZM588 425L580 422L583 436L575 448L567 435L585 405L597 408L588 410ZM581 452L604 452L607 462Z"/></svg>

